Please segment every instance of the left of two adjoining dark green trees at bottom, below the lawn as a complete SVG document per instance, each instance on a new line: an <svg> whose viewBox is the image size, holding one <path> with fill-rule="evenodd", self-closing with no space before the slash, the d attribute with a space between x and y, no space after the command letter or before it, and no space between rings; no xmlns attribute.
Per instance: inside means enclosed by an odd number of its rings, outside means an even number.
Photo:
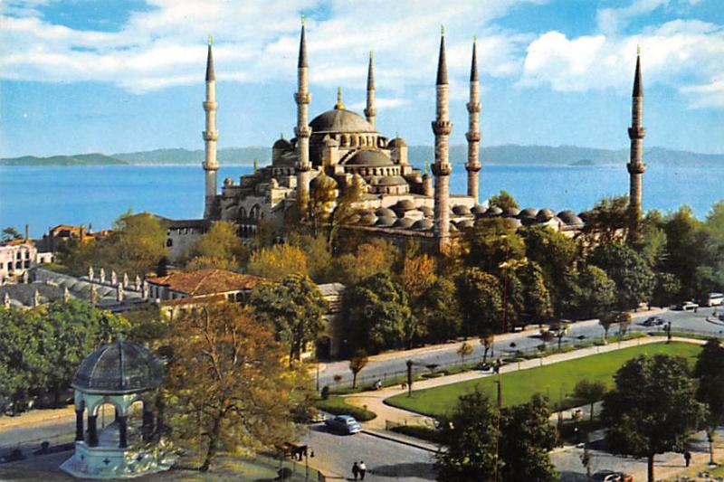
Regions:
<svg viewBox="0 0 724 482"><path fill-rule="evenodd" d="M441 448L435 455L437 480L492 482L501 464L496 457L499 413L481 392L462 395L450 417L440 421Z"/></svg>

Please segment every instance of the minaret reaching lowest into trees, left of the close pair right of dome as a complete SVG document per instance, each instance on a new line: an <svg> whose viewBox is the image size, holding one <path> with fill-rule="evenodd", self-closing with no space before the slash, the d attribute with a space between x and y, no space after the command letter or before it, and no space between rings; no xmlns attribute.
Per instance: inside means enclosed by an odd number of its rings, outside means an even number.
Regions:
<svg viewBox="0 0 724 482"><path fill-rule="evenodd" d="M452 165L448 160L448 137L452 131L452 122L448 109L447 64L445 62L445 29L440 36L440 57L437 63L437 100L433 132L435 134L435 176L434 192L434 236L437 250L447 251L450 246L450 173Z"/></svg>

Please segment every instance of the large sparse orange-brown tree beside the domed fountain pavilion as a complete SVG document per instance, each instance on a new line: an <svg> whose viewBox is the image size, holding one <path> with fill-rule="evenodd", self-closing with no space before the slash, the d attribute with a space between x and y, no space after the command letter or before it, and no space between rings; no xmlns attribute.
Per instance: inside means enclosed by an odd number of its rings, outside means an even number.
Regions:
<svg viewBox="0 0 724 482"><path fill-rule="evenodd" d="M236 304L198 307L169 339L167 423L176 442L199 447L207 471L220 450L262 449L295 439L293 413L313 398L309 375L283 364L271 330Z"/></svg>

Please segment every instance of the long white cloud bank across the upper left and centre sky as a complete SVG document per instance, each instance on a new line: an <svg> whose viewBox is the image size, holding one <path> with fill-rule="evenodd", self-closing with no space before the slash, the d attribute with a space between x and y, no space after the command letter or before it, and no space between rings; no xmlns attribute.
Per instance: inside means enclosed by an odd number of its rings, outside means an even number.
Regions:
<svg viewBox="0 0 724 482"><path fill-rule="evenodd" d="M439 25L447 26L451 77L470 69L472 35L479 37L481 71L519 73L529 37L494 29L491 21L521 3L491 0L435 4L424 0L349 3L333 0L147 0L118 32L72 29L43 20L48 0L14 0L0 15L0 78L41 81L107 81L147 92L203 80L205 38L214 33L220 80L265 82L295 75L302 12L308 20L311 81L364 89L367 51L376 51L376 83L399 92L433 82ZM323 8L322 8L323 7Z"/></svg>

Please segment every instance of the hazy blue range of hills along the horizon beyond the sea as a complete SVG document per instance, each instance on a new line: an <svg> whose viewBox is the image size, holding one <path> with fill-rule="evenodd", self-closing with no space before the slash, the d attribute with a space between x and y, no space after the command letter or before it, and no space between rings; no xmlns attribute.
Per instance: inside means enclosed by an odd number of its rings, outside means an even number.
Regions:
<svg viewBox="0 0 724 482"><path fill-rule="evenodd" d="M465 145L451 146L451 162L464 164L467 149ZM644 162L648 165L724 167L724 154L699 154L663 147L644 148L643 152ZM434 149L433 146L410 146L408 156L412 164L424 165L425 159L433 161ZM481 148L483 165L625 165L628 156L627 148L614 150L578 146L518 145ZM271 160L271 147L226 147L219 149L218 158L222 165L252 165L254 159L258 159L260 165L267 165ZM0 165L200 165L203 160L202 149L157 149L111 156L102 154L24 156L0 159Z"/></svg>

